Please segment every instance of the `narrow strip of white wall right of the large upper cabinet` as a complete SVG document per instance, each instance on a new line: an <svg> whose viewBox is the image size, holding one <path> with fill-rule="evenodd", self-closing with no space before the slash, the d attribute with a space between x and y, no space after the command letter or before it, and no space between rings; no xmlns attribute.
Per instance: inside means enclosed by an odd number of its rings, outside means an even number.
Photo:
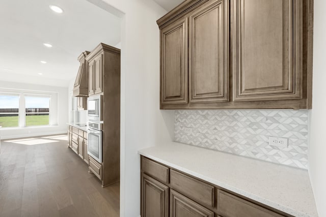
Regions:
<svg viewBox="0 0 326 217"><path fill-rule="evenodd" d="M326 1L314 1L313 98L310 111L309 174L319 216L326 216Z"/></svg>

